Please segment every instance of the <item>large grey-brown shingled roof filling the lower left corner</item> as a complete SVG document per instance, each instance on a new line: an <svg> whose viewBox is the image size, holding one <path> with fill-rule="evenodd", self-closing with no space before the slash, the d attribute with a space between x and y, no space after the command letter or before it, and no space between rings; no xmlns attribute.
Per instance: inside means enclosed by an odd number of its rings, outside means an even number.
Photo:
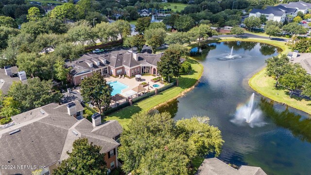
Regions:
<svg viewBox="0 0 311 175"><path fill-rule="evenodd" d="M77 110L82 107L78 101L74 103ZM52 103L14 116L13 120L17 124L0 131L0 147L5 148L5 151L0 152L0 164L49 166L67 158L66 152L72 150L73 141L84 137L89 142L102 146L102 153L119 145L109 137L121 134L122 128L118 122L111 121L94 128L86 119L78 121L70 116L66 105ZM17 129L20 131L9 134ZM0 175L30 175L32 171L34 170L0 169Z"/></svg>

